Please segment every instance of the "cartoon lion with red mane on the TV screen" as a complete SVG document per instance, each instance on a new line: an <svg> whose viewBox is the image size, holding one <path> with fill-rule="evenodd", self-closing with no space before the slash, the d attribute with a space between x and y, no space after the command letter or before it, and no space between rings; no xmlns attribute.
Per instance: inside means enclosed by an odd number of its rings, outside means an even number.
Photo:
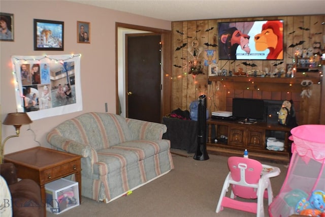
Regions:
<svg viewBox="0 0 325 217"><path fill-rule="evenodd" d="M255 49L264 51L269 48L267 59L283 59L283 25L279 20L267 21L262 26L262 32L255 35Z"/></svg>

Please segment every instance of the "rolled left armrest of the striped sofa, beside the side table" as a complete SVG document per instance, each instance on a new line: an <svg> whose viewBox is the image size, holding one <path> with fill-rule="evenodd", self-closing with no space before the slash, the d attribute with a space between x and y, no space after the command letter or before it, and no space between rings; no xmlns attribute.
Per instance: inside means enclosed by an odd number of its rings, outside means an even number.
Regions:
<svg viewBox="0 0 325 217"><path fill-rule="evenodd" d="M98 161L97 152L90 145L82 144L80 142L64 138L59 134L51 133L47 135L47 141L50 143L50 145L61 150L78 154L83 158L89 157L92 164Z"/></svg>

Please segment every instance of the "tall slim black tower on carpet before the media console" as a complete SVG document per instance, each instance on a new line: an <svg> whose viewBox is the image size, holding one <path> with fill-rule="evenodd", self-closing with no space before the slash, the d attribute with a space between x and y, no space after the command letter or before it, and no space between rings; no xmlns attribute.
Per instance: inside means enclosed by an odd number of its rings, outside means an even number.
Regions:
<svg viewBox="0 0 325 217"><path fill-rule="evenodd" d="M198 107L198 147L194 154L194 159L205 161L209 159L207 152L207 97L201 95L199 97Z"/></svg>

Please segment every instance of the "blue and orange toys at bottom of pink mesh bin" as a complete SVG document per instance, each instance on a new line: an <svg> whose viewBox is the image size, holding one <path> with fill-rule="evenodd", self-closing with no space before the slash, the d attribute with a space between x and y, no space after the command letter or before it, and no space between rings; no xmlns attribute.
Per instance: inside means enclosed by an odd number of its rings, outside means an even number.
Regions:
<svg viewBox="0 0 325 217"><path fill-rule="evenodd" d="M301 215L321 216L325 212L325 193L313 191L309 200L302 198L296 206L296 212Z"/></svg>

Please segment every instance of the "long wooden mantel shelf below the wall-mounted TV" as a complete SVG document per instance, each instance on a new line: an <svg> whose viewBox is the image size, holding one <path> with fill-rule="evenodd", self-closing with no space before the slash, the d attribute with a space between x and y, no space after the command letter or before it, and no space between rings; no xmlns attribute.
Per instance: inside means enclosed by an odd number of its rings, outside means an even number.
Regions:
<svg viewBox="0 0 325 217"><path fill-rule="evenodd" d="M259 82L259 83L285 83L300 84L303 80L311 80L317 84L320 79L315 77L299 78L270 78L270 77L248 77L248 76L209 76L209 81L226 81L226 82Z"/></svg>

